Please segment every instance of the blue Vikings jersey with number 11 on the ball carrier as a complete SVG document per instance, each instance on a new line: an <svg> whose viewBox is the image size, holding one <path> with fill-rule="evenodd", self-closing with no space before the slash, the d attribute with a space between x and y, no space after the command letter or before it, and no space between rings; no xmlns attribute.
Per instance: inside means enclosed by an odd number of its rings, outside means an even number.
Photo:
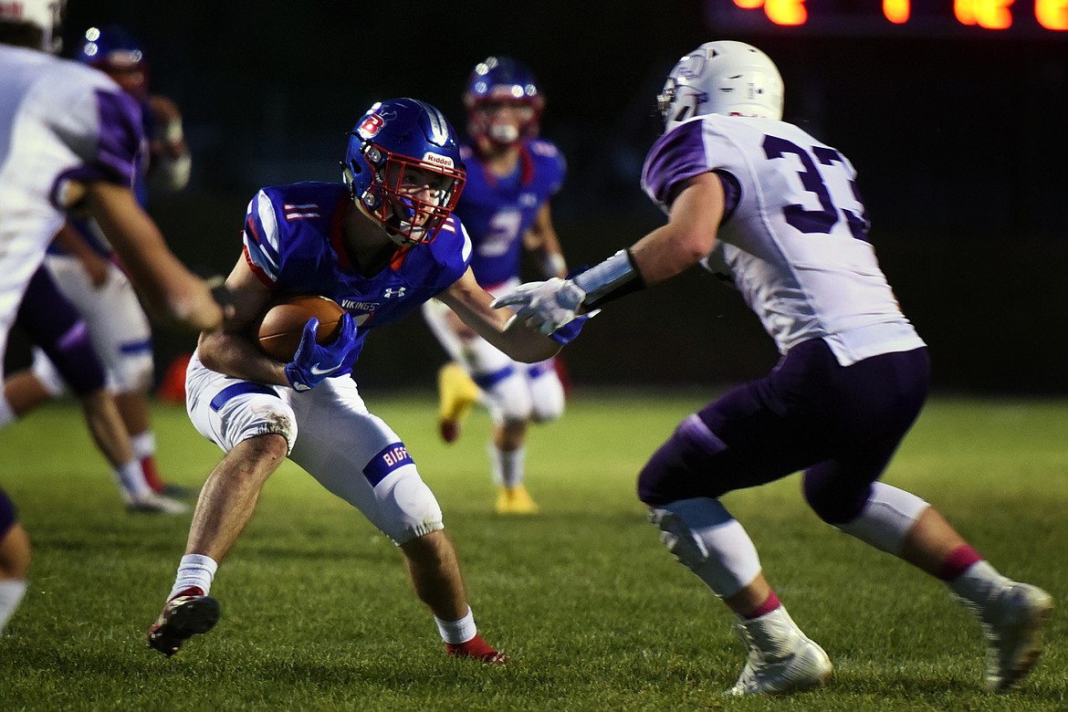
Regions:
<svg viewBox="0 0 1068 712"><path fill-rule="evenodd" d="M276 294L329 297L352 315L357 348L370 329L399 321L467 271L471 241L451 217L430 242L398 248L377 274L360 274L342 242L345 211L352 204L340 183L295 183L263 188L245 217L245 258Z"/></svg>

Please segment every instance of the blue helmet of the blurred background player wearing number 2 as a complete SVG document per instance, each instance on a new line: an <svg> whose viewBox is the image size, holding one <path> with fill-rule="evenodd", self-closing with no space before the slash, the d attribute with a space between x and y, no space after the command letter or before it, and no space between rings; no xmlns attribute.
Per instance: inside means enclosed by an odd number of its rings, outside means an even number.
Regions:
<svg viewBox="0 0 1068 712"><path fill-rule="evenodd" d="M471 138L508 145L537 135L545 97L527 65L511 57L487 57L468 77L464 106ZM512 107L515 117L500 116L502 107Z"/></svg>

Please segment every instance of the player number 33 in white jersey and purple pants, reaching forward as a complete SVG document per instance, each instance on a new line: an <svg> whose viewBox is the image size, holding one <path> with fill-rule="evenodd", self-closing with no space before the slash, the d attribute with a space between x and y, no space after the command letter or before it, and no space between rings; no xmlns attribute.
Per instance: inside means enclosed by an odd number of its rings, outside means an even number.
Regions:
<svg viewBox="0 0 1068 712"><path fill-rule="evenodd" d="M878 481L924 404L929 364L867 240L852 164L781 121L779 70L744 43L682 57L658 99L665 130L642 184L666 224L572 280L523 285L494 304L551 333L701 263L733 281L774 338L774 370L682 421L639 478L663 542L737 617L749 658L733 694L789 693L831 675L720 502L797 471L821 519L972 607L987 684L1008 687L1038 655L1052 599L1001 575L927 502Z"/></svg>

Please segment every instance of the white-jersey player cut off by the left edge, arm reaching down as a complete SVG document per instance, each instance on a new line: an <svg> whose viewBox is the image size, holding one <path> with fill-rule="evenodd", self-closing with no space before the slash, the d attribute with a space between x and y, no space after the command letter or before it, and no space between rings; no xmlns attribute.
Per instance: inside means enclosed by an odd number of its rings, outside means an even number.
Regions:
<svg viewBox="0 0 1068 712"><path fill-rule="evenodd" d="M223 317L130 188L144 141L137 105L105 75L49 54L62 11L63 0L0 2L0 359L26 285L74 209L100 223L159 318L214 330ZM0 491L0 510L6 505ZM0 620L25 591L30 556L12 522L13 513L0 517Z"/></svg>

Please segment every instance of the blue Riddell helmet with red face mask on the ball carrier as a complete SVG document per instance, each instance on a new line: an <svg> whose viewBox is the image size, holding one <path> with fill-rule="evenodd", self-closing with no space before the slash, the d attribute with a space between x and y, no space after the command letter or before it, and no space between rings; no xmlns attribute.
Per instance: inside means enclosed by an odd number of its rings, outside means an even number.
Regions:
<svg viewBox="0 0 1068 712"><path fill-rule="evenodd" d="M343 167L352 200L402 247L435 238L466 175L452 124L409 98L379 101L360 117Z"/></svg>

